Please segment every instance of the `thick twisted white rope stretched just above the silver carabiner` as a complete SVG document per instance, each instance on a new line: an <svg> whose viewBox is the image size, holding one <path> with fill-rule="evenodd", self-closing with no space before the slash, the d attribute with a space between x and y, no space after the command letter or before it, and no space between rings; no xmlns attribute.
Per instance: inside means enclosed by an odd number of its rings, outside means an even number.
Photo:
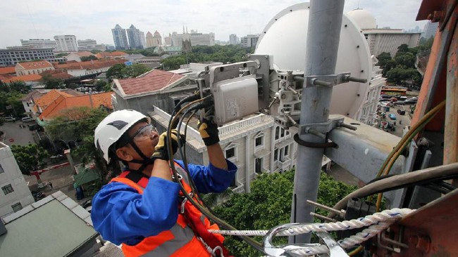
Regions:
<svg viewBox="0 0 458 257"><path fill-rule="evenodd" d="M357 218L354 220L343 220L334 223L312 223L297 228L289 228L282 232L279 232L277 236L291 236L305 234L309 232L328 232L336 230L352 230L354 228L362 228L373 224L380 224L388 221L388 223L394 222L398 218L402 218L414 210L411 209L391 209L385 210L379 213L373 213L364 218ZM264 236L268 230L209 230L211 233L217 233L221 235L247 235L247 236Z"/></svg>

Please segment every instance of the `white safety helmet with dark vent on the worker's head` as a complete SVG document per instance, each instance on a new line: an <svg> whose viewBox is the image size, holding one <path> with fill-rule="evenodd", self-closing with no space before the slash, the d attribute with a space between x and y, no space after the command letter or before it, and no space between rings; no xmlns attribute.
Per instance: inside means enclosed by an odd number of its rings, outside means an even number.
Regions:
<svg viewBox="0 0 458 257"><path fill-rule="evenodd" d="M94 131L94 144L104 154L107 163L110 162L109 150L111 145L116 143L125 131L128 131L130 127L142 119L148 123L151 122L151 119L141 112L120 110L112 112L99 123Z"/></svg>

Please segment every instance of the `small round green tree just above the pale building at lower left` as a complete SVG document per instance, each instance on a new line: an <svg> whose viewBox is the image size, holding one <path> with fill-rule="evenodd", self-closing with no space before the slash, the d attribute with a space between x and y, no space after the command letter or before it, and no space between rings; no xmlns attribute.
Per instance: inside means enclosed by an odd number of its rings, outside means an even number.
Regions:
<svg viewBox="0 0 458 257"><path fill-rule="evenodd" d="M11 152L13 152L16 162L18 162L20 171L27 176L30 176L30 172L32 171L46 167L47 164L43 159L49 157L47 150L35 144L25 146L12 145Z"/></svg>

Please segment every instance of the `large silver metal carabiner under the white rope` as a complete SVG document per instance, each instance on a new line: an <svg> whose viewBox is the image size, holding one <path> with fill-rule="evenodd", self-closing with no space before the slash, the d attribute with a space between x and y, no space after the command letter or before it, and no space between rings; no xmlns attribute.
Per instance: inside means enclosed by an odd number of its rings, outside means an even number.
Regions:
<svg viewBox="0 0 458 257"><path fill-rule="evenodd" d="M269 230L263 239L264 252L268 256L273 256L273 257L295 257L295 256L301 256L297 253L294 253L293 251L295 250L301 250L306 247L321 246L321 244L287 244L287 245L280 245L280 246L274 246L272 244L272 239L276 234L283 232L284 230L299 227L302 225L304 225L304 223L290 223L290 224L278 225L272 228L271 230ZM312 233L315 233L328 247L329 252L330 252L330 257L348 256L345 250L342 249L342 247L340 247L340 245L337 242L335 242L333 237L331 237L328 234L328 232L313 232L312 231Z"/></svg>

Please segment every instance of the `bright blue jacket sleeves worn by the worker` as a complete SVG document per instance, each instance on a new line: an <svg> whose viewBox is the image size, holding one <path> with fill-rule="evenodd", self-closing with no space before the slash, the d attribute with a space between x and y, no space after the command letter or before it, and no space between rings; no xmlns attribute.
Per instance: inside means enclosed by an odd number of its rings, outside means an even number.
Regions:
<svg viewBox="0 0 458 257"><path fill-rule="evenodd" d="M182 161L176 161L183 166ZM237 166L228 171L212 164L188 164L190 176L202 193L223 192L233 181ZM91 219L95 230L113 244L135 245L144 237L158 235L175 225L178 218L178 183L151 177L143 195L123 183L101 187L92 199Z"/></svg>

